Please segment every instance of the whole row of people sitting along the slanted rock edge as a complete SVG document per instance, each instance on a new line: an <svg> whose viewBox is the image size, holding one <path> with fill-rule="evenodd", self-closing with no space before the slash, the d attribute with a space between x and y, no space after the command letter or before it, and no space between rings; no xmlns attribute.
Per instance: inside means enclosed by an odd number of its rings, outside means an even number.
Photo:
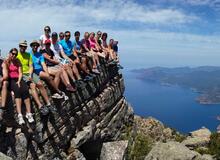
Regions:
<svg viewBox="0 0 220 160"><path fill-rule="evenodd" d="M44 27L44 34L39 40L30 43L31 50L27 52L27 41L21 41L19 48L12 48L7 58L0 59L1 106L0 123L6 111L8 90L14 97L18 114L18 124L23 125L21 106L26 106L26 119L34 122L31 112L30 94L38 106L41 115L56 111L51 104L44 82L52 88L52 98L68 100L59 89L60 82L66 91L75 92L84 88L86 81L100 74L100 60L106 64L114 64L122 69L118 60L118 42L113 39L107 42L107 33L98 31L84 33L80 40L80 32L51 33L49 26ZM30 92L29 92L30 89ZM43 97L40 100L38 91Z"/></svg>

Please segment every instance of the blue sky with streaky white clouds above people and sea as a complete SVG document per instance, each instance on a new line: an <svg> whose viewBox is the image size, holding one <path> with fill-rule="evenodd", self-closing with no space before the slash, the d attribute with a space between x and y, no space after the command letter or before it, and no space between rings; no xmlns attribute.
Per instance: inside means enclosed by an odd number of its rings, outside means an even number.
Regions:
<svg viewBox="0 0 220 160"><path fill-rule="evenodd" d="M220 0L0 0L0 22L3 56L49 25L107 32L129 69L220 65Z"/></svg>

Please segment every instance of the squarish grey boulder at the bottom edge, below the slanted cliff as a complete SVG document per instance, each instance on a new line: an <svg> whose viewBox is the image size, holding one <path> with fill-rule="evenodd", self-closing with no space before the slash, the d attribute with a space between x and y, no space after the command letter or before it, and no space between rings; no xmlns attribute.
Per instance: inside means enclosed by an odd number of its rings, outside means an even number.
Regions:
<svg viewBox="0 0 220 160"><path fill-rule="evenodd" d="M100 160L124 160L128 141L103 143Z"/></svg>

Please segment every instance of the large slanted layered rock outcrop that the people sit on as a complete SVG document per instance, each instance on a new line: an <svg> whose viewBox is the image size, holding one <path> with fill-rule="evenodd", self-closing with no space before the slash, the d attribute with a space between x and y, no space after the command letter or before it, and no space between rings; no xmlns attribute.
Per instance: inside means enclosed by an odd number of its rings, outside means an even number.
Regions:
<svg viewBox="0 0 220 160"><path fill-rule="evenodd" d="M0 152L16 160L99 159L103 143L120 139L122 131L133 124L124 89L117 66L102 65L101 74L85 89L67 93L67 103L51 100L57 112L40 117L33 103L36 124L23 127L17 125L9 100Z"/></svg>

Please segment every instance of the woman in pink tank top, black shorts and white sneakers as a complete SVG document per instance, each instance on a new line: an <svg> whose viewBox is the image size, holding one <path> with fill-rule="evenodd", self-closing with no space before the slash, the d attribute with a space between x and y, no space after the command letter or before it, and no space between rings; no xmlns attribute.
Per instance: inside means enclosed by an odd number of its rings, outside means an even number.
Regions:
<svg viewBox="0 0 220 160"><path fill-rule="evenodd" d="M22 66L20 61L16 58L18 50L13 48L9 52L8 59L5 60L8 66L9 86L10 90L14 92L16 109L18 113L18 123L22 125L25 123L22 113L21 104L22 99L26 106L26 118L29 123L33 123L34 119L31 113L30 95L27 84L22 80Z"/></svg>

